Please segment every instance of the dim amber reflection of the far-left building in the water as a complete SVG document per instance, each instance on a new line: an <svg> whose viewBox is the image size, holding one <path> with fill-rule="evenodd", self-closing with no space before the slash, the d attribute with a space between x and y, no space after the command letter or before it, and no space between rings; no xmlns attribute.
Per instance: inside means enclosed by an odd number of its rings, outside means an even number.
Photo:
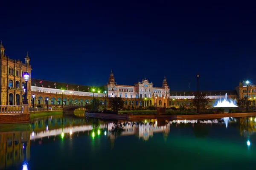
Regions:
<svg viewBox="0 0 256 170"><path fill-rule="evenodd" d="M29 157L29 132L0 133L0 169L20 166Z"/></svg>

